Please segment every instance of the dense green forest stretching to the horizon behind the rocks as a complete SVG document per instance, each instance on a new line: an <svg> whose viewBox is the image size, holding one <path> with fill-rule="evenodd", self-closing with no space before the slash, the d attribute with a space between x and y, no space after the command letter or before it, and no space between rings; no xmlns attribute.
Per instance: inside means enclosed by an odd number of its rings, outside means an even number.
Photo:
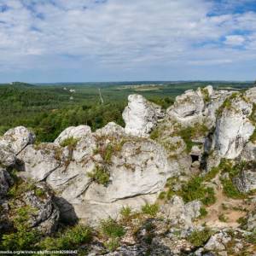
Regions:
<svg viewBox="0 0 256 256"><path fill-rule="evenodd" d="M35 131L38 141L52 142L71 125L90 125L93 131L110 121L124 125L122 112L130 94L142 94L168 108L184 90L207 84L236 90L252 86L252 83L223 82L0 84L0 136L11 127L24 125Z"/></svg>

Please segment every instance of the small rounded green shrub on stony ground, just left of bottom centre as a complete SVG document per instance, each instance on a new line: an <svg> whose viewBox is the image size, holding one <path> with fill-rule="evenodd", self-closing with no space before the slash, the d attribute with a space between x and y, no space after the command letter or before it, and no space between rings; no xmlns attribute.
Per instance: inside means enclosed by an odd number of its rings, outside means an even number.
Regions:
<svg viewBox="0 0 256 256"><path fill-rule="evenodd" d="M113 218L102 220L101 231L102 234L108 238L119 238L125 236L124 227L113 220Z"/></svg>

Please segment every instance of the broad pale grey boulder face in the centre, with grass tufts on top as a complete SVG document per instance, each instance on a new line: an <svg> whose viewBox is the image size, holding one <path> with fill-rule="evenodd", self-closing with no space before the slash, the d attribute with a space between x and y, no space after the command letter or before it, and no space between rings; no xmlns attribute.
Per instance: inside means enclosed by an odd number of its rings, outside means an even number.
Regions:
<svg viewBox="0 0 256 256"><path fill-rule="evenodd" d="M77 141L61 147L69 136ZM167 177L177 172L158 143L128 136L114 123L95 133L86 126L67 128L55 143L28 145L18 158L21 177L45 180L55 190L61 217L94 225L101 218L117 218L123 206L154 203ZM107 173L108 181L99 183L95 172Z"/></svg>

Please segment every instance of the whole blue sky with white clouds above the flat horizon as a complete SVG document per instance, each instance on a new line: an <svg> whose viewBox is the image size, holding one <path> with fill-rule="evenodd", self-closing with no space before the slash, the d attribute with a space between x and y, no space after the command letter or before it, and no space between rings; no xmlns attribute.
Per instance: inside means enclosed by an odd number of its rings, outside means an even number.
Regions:
<svg viewBox="0 0 256 256"><path fill-rule="evenodd" d="M0 0L0 83L255 80L255 0Z"/></svg>

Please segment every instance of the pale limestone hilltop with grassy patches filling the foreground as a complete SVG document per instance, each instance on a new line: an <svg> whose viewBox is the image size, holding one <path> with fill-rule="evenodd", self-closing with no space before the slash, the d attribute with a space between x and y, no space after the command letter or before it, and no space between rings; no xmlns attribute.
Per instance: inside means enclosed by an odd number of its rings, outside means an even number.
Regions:
<svg viewBox="0 0 256 256"><path fill-rule="evenodd" d="M43 238L90 225L85 254L253 255L256 88L187 90L166 110L131 95L123 119L54 143L23 126L0 137L1 233L23 209Z"/></svg>

